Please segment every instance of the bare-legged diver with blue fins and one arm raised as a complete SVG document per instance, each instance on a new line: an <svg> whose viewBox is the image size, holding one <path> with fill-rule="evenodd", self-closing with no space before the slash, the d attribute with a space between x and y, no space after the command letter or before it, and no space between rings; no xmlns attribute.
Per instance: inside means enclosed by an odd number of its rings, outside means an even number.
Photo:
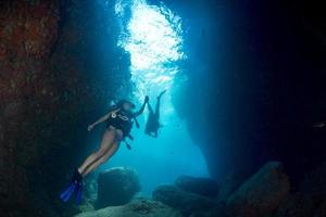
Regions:
<svg viewBox="0 0 326 217"><path fill-rule="evenodd" d="M137 128L139 128L136 117L142 114L148 101L149 98L146 97L141 108L134 113L135 104L127 100L121 100L108 112L108 114L88 126L88 131L91 131L97 125L106 122L106 128L103 132L99 150L89 155L82 166L75 170L71 184L60 195L60 199L63 202L67 202L74 193L76 194L76 203L79 204L82 202L83 178L113 156L117 151L120 143L125 141L126 137L133 140L133 137L129 133L134 120Z"/></svg>

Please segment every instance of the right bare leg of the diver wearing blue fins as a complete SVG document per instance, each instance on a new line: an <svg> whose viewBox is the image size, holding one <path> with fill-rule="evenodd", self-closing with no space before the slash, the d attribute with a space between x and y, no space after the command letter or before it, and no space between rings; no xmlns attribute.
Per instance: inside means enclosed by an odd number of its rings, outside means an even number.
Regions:
<svg viewBox="0 0 326 217"><path fill-rule="evenodd" d="M115 154L115 152L117 151L120 143L122 141L122 132L120 132L121 130L116 130L116 140L113 142L113 144L110 146L110 149L106 151L106 153L101 156L101 158L99 158L97 162L92 163L91 165L89 165L86 170L84 171L84 176L87 176L90 171L95 170L96 168L98 168L101 164L105 163L111 156L113 156Z"/></svg>

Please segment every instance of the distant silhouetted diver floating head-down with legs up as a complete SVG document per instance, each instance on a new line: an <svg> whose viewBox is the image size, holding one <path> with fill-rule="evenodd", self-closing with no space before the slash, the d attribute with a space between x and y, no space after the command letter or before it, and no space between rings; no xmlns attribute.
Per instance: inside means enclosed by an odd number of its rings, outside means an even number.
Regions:
<svg viewBox="0 0 326 217"><path fill-rule="evenodd" d="M149 116L148 120L146 123L145 133L147 133L150 137L158 138L158 130L162 125L160 124L160 101L162 95L166 92L166 90L163 90L159 97L156 102L155 112L153 112L152 106L148 103L149 108Z"/></svg>

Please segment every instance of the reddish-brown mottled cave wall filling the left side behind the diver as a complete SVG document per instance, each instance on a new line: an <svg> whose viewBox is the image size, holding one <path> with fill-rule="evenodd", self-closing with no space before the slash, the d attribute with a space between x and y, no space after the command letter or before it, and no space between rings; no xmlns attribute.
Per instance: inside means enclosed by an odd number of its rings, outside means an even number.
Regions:
<svg viewBox="0 0 326 217"><path fill-rule="evenodd" d="M0 216L73 212L58 194L85 157L86 127L128 94L129 58L103 5L0 3Z"/></svg>

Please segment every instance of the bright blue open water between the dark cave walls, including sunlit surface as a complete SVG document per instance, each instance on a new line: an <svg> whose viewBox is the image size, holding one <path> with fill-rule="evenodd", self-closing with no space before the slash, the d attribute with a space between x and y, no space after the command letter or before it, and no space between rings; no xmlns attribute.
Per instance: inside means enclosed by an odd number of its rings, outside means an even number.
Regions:
<svg viewBox="0 0 326 217"><path fill-rule="evenodd" d="M124 20L125 10L131 15L122 28L118 47L130 54L130 74L134 85L134 101L141 104L150 97L152 107L162 90L161 123L159 138L143 133L148 111L139 118L141 129L134 129L133 150L122 143L118 152L101 169L129 166L137 170L142 192L149 195L162 183L172 183L180 175L208 177L204 157L190 139L185 123L179 119L172 105L171 89L181 73L179 62L187 58L183 51L181 18L164 4L149 5L145 0L115 3L116 16Z"/></svg>

